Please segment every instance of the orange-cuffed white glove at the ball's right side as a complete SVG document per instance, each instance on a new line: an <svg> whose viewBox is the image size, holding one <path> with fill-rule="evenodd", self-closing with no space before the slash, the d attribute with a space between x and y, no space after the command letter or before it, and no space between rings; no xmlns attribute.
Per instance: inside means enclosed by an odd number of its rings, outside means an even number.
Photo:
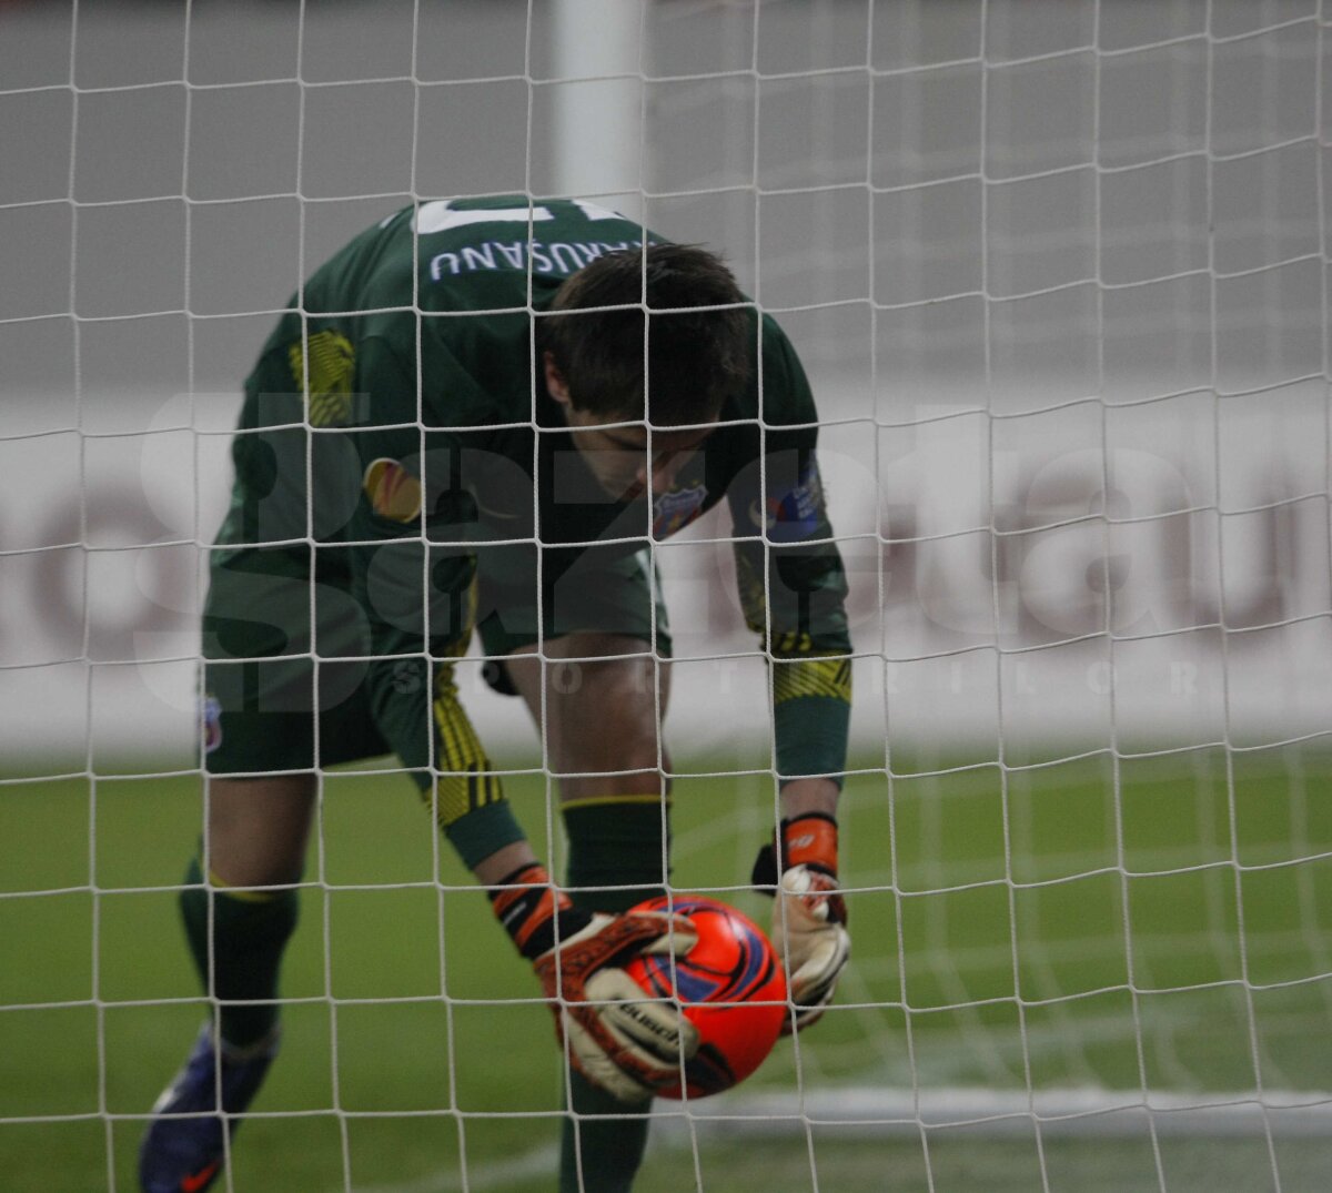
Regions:
<svg viewBox="0 0 1332 1193"><path fill-rule="evenodd" d="M783 820L777 843L759 851L754 881L777 896L771 937L794 1009L782 1028L790 1035L822 1017L851 955L836 880L836 822L823 815Z"/></svg>

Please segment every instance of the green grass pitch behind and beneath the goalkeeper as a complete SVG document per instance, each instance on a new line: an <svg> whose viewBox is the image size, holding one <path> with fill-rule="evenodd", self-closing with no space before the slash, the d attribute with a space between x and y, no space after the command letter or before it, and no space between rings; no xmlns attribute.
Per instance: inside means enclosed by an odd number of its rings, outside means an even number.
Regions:
<svg viewBox="0 0 1332 1193"><path fill-rule="evenodd" d="M1316 1098L1332 1089L1329 776L1325 755L1285 747L852 778L851 969L741 1092L900 1105L918 1089L927 1117L940 1090ZM543 779L507 786L558 865ZM771 810L770 780L679 779L675 884L766 919L743 887ZM4 1189L136 1188L143 1116L204 1016L172 889L200 811L193 776L0 784ZM220 1188L553 1189L549 1012L406 779L328 776L306 879L284 1055ZM1315 1189L1332 1170L1325 1137L1154 1140L1122 1117L1114 1137L1031 1118L663 1124L638 1189Z"/></svg>

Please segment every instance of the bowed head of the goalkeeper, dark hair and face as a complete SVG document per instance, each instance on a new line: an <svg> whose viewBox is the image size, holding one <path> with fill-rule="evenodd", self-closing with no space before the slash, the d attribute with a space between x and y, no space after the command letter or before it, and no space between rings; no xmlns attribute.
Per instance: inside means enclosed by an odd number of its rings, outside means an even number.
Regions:
<svg viewBox="0 0 1332 1193"><path fill-rule="evenodd" d="M541 328L546 387L587 431L577 442L602 486L622 498L670 487L749 381L753 340L731 272L694 245L598 257L565 281ZM643 425L597 430L634 422Z"/></svg>

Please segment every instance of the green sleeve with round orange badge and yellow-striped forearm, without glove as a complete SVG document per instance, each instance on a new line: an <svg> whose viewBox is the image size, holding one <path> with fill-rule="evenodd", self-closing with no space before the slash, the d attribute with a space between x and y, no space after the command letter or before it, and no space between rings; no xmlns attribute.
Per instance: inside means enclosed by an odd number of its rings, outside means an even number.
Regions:
<svg viewBox="0 0 1332 1193"><path fill-rule="evenodd" d="M422 431L416 362L366 337L361 426L349 431L356 595L366 615L372 711L462 860L525 840L458 699L474 615L477 515L460 467L466 438ZM425 357L433 383L448 362ZM429 421L429 418L428 418Z"/></svg>

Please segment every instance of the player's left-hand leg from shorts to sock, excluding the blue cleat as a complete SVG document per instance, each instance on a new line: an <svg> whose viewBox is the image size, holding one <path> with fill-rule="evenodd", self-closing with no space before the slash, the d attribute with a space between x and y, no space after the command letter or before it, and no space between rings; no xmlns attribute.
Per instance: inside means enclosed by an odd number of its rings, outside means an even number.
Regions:
<svg viewBox="0 0 1332 1193"><path fill-rule="evenodd" d="M364 622L334 553L242 550L212 573L204 610L206 822L181 912L222 1041L277 1023L320 767L385 752L360 680ZM312 627L312 595L314 624ZM312 654L332 656L316 667Z"/></svg>

